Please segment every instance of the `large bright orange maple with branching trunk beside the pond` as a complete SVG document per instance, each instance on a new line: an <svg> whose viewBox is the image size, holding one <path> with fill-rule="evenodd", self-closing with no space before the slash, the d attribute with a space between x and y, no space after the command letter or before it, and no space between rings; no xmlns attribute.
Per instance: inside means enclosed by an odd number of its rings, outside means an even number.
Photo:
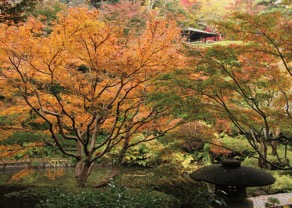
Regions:
<svg viewBox="0 0 292 208"><path fill-rule="evenodd" d="M76 7L59 13L49 34L35 18L0 26L1 93L18 98L15 112L32 110L35 122L47 123L52 145L75 158L80 187L115 146L122 145L122 157L176 126L169 123L171 104L147 97L160 90L155 77L179 63L175 22L152 13L139 36L124 36L123 25L98 18L99 11ZM136 134L142 137L131 143Z"/></svg>

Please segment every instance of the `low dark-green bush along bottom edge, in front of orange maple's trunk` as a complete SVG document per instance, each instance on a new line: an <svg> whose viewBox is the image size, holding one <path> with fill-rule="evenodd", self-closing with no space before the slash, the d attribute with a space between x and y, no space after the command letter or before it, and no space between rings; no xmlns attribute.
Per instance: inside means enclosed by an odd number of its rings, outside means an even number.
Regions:
<svg viewBox="0 0 292 208"><path fill-rule="evenodd" d="M102 189L29 187L7 193L1 207L18 208L19 203L30 208L178 208L178 200L157 191L127 189L112 185ZM25 206L26 206L25 205ZM23 207L23 206L21 206Z"/></svg>

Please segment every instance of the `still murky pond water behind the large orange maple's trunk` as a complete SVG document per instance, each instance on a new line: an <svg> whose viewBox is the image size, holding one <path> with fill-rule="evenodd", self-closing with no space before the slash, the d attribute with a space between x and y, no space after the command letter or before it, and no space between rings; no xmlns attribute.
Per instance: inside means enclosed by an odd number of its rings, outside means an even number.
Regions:
<svg viewBox="0 0 292 208"><path fill-rule="evenodd" d="M88 185L96 185L112 175L112 166L96 165L88 177ZM131 184L140 187L149 180L160 178L161 174L153 174L153 169L145 167L121 167L120 174L116 178L119 184ZM62 187L75 187L74 168L24 168L18 170L0 171L0 184L25 184L25 185L49 185Z"/></svg>

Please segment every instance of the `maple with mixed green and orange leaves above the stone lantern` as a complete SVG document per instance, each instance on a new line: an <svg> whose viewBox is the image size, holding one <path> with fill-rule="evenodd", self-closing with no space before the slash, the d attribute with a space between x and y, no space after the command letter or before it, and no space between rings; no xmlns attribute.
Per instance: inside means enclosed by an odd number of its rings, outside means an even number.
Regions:
<svg viewBox="0 0 292 208"><path fill-rule="evenodd" d="M291 169L291 20L280 13L235 13L218 25L243 43L191 48L195 67L189 72L192 83L184 86L202 96L211 120L232 121L261 168ZM276 141L285 146L284 155L278 154Z"/></svg>

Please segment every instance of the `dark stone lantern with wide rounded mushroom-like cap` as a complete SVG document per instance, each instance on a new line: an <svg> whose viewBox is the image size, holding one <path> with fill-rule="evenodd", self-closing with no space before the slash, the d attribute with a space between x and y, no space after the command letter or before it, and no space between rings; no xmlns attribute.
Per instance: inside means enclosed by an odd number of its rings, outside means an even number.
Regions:
<svg viewBox="0 0 292 208"><path fill-rule="evenodd" d="M241 166L240 161L224 160L200 168L190 174L196 181L204 181L215 185L215 192L222 190L230 202L244 201L247 198L246 187L266 186L273 184L275 178L260 169Z"/></svg>

